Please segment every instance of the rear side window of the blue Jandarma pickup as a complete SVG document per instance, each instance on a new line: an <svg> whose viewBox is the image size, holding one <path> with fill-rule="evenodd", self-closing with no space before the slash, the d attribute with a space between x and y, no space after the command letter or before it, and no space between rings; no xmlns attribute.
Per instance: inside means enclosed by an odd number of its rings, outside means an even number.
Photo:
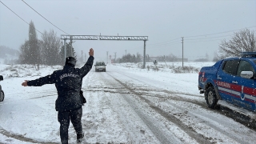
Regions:
<svg viewBox="0 0 256 144"><path fill-rule="evenodd" d="M222 67L222 70L228 74L236 75L238 70L238 64L238 59L228 60L225 62L224 66Z"/></svg>

